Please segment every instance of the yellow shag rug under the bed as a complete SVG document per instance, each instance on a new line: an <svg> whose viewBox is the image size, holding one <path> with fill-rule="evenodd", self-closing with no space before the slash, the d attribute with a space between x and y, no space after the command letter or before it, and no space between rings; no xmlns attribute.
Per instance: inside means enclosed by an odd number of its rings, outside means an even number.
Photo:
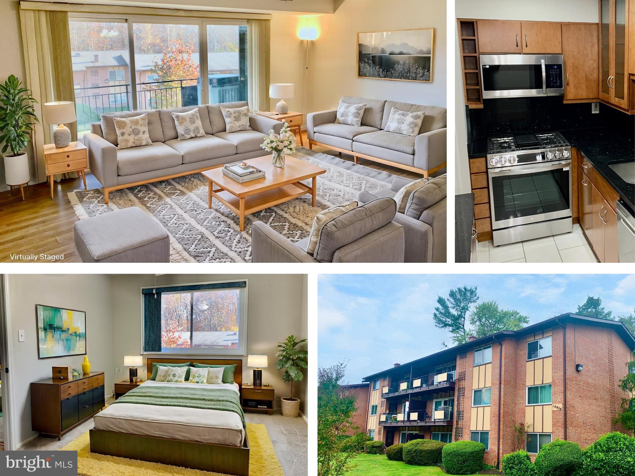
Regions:
<svg viewBox="0 0 635 476"><path fill-rule="evenodd" d="M247 439L250 448L249 475L284 476L265 425L247 423ZM72 440L62 450L77 451L77 474L81 476L222 476L221 473L91 453L88 432Z"/></svg>

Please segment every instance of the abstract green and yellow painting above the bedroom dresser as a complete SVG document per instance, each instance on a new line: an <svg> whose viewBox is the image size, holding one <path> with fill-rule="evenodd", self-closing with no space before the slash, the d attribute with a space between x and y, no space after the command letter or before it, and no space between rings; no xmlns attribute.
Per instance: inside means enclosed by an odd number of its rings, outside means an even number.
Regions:
<svg viewBox="0 0 635 476"><path fill-rule="evenodd" d="M86 313L36 305L37 358L86 355Z"/></svg>

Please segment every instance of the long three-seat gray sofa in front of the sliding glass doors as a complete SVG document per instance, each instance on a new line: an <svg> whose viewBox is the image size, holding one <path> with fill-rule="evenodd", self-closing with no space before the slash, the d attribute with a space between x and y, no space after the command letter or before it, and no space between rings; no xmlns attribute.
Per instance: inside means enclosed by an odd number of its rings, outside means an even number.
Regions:
<svg viewBox="0 0 635 476"><path fill-rule="evenodd" d="M112 190L189 175L266 154L260 144L271 129L279 133L281 122L250 114L252 131L226 131L220 106L234 109L246 105L246 102L232 102L102 114L101 122L91 124L91 133L84 134L84 145L88 149L88 168L104 185L105 202L108 203ZM199 110L206 135L178 140L171 112L192 109ZM118 150L113 118L141 114L148 115L152 144Z"/></svg>

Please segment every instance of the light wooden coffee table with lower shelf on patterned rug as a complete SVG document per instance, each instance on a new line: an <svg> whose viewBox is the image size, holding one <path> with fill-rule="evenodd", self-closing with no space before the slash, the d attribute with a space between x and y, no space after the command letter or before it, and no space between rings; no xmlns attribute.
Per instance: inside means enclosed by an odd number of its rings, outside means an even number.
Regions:
<svg viewBox="0 0 635 476"><path fill-rule="evenodd" d="M203 172L208 179L207 207L211 208L211 199L215 198L240 219L240 230L244 231L244 216L250 215L279 203L288 202L305 194L311 194L312 206L316 206L316 185L318 175L325 169L301 161L295 157L286 157L284 167L271 164L271 154L245 162L264 170L265 176L250 182L238 183L223 175L223 168L218 167ZM312 186L308 187L300 180L312 178ZM218 188L214 188L216 185Z"/></svg>

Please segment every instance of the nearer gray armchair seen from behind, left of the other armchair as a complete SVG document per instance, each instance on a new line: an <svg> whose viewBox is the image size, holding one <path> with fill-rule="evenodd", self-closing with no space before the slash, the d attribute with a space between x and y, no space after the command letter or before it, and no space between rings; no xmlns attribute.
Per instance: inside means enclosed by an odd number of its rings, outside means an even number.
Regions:
<svg viewBox="0 0 635 476"><path fill-rule="evenodd" d="M404 227L394 199L375 199L329 221L313 255L309 237L291 242L262 221L251 225L254 263L403 263Z"/></svg>

